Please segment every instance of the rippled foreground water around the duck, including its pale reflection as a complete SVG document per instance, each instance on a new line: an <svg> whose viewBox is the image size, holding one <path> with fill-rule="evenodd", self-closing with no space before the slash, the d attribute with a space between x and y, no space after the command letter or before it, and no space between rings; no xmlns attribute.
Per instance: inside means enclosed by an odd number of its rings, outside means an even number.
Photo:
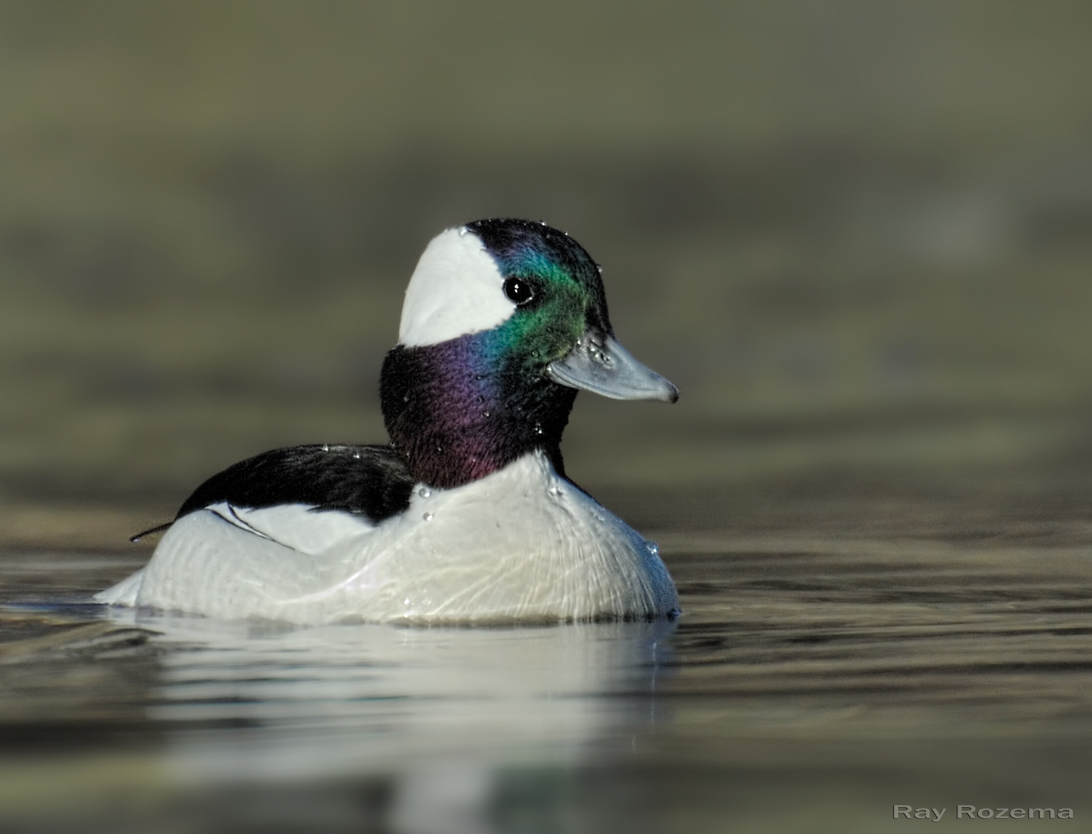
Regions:
<svg viewBox="0 0 1092 834"><path fill-rule="evenodd" d="M1087 549L815 530L664 529L677 622L533 629L109 612L141 557L10 553L5 830L1087 830Z"/></svg>

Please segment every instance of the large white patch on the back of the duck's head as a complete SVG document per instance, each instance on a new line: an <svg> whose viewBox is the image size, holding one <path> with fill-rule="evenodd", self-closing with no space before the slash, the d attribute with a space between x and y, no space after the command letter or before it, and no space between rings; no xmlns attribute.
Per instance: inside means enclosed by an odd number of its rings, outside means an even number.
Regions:
<svg viewBox="0 0 1092 834"><path fill-rule="evenodd" d="M440 233L425 247L410 279L399 343L437 344L496 327L515 309L503 285L505 277L477 235L465 226Z"/></svg>

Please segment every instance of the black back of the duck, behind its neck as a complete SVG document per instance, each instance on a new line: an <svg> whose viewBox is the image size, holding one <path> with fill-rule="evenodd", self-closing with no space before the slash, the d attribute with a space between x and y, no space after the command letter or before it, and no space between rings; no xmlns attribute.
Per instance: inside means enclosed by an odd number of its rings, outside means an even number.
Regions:
<svg viewBox="0 0 1092 834"><path fill-rule="evenodd" d="M292 446L263 451L198 486L176 519L222 501L256 509L307 504L378 524L410 506L414 479L390 446Z"/></svg>

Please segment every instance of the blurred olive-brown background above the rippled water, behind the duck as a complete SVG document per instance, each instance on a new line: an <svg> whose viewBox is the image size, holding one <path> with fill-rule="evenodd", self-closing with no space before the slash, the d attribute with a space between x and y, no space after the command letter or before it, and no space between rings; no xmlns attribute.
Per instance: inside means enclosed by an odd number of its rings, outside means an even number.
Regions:
<svg viewBox="0 0 1092 834"><path fill-rule="evenodd" d="M567 435L638 522L1087 535L1090 44L1065 0L4 2L0 544L382 442L416 258L492 215L682 390Z"/></svg>

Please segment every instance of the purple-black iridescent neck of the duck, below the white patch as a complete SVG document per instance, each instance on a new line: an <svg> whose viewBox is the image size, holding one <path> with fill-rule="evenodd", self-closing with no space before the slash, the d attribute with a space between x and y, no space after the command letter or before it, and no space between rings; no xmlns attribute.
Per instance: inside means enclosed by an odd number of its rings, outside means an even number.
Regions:
<svg viewBox="0 0 1092 834"><path fill-rule="evenodd" d="M559 444L577 391L498 348L486 331L387 354L383 421L419 482L461 486L536 449L563 475Z"/></svg>

